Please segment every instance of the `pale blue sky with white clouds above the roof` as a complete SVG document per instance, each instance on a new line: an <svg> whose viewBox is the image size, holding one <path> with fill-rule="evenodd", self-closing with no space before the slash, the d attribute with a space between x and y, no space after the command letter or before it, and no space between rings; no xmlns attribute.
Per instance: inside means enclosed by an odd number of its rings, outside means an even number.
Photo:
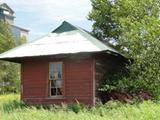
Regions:
<svg viewBox="0 0 160 120"><path fill-rule="evenodd" d="M90 0L0 0L15 12L14 24L30 30L29 41L36 40L58 27L64 20L88 31Z"/></svg>

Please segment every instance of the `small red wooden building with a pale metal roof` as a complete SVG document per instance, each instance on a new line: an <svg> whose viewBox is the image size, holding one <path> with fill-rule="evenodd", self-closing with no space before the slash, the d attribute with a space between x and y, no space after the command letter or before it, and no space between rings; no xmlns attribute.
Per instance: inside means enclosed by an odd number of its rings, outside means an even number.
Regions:
<svg viewBox="0 0 160 120"><path fill-rule="evenodd" d="M21 64L21 99L29 104L94 105L104 73L124 57L85 30L63 22L52 33L0 55Z"/></svg>

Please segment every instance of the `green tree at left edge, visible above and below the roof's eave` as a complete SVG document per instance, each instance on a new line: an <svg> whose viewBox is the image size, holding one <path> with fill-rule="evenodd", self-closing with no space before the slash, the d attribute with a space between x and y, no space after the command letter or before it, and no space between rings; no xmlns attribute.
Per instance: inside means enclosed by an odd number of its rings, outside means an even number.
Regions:
<svg viewBox="0 0 160 120"><path fill-rule="evenodd" d="M21 38L16 40L13 38L8 23L0 21L0 53L20 45L21 41ZM0 94L19 91L19 71L20 66L18 64L0 61Z"/></svg>

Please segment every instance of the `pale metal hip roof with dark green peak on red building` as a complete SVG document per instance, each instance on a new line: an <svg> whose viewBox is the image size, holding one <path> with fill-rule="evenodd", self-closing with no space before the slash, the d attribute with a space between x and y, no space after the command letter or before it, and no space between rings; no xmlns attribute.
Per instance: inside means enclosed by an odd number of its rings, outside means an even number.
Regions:
<svg viewBox="0 0 160 120"><path fill-rule="evenodd" d="M0 54L0 59L100 51L118 53L85 30L64 21L52 33Z"/></svg>

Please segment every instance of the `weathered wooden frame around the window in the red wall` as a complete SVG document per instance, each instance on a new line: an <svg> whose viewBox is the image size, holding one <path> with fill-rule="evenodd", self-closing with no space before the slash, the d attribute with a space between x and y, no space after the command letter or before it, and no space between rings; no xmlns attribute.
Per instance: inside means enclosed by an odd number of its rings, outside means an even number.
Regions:
<svg viewBox="0 0 160 120"><path fill-rule="evenodd" d="M62 69L61 69L61 72L62 72L62 75L61 75L61 81L62 81L62 83L61 83L61 89L62 89L62 95L51 95L51 89L53 88L52 86L51 86L51 81L56 81L56 80L52 80L52 79L50 79L50 67L51 67L51 64L61 64L61 67L62 67ZM59 61L59 62L49 62L49 76L48 76L48 81L49 81L49 84L48 84L48 86L49 86L49 97L50 98L55 98L55 99L61 99L61 98L63 98L63 83L64 83L64 80L63 80L63 62L62 61ZM57 87L56 87L56 89L57 89Z"/></svg>

